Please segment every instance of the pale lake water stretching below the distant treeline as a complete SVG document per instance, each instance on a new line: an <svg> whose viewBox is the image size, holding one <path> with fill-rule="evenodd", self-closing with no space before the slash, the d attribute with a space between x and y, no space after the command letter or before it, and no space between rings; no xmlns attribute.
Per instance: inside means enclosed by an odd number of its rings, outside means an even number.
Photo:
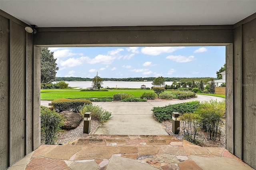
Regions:
<svg viewBox="0 0 256 170"><path fill-rule="evenodd" d="M92 81L65 81L68 83L69 87L79 87L86 89L87 87L92 86ZM52 82L56 83L56 81ZM140 88L142 85L146 85L146 87L152 87L152 81L103 81L102 87L110 87L110 88ZM165 84L172 85L172 81L166 81Z"/></svg>

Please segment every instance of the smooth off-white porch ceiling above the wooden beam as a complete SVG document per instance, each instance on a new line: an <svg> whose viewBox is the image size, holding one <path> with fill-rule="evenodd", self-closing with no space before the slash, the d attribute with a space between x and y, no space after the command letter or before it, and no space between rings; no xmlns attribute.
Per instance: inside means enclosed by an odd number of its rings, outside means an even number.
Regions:
<svg viewBox="0 0 256 170"><path fill-rule="evenodd" d="M38 27L233 25L256 0L0 0L0 9Z"/></svg>

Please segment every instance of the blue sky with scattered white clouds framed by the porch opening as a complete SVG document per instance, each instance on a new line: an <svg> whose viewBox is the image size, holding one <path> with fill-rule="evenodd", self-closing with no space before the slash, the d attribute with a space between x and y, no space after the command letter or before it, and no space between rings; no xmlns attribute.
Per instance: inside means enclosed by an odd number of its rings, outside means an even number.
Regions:
<svg viewBox="0 0 256 170"><path fill-rule="evenodd" d="M57 58L56 77L216 77L225 46L49 47Z"/></svg>

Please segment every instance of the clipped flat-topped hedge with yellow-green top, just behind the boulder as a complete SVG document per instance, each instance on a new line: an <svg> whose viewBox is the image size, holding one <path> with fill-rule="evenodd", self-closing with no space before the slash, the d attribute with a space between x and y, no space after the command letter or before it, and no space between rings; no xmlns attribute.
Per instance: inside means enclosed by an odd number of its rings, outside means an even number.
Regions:
<svg viewBox="0 0 256 170"><path fill-rule="evenodd" d="M53 108L56 112L78 112L78 108L84 104L89 105L92 102L86 99L56 99L52 101Z"/></svg>

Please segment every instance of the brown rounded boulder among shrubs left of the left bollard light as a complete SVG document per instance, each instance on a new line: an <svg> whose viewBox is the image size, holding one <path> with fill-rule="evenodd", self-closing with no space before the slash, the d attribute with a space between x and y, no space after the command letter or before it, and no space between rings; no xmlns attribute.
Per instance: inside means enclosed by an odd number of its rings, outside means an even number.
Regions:
<svg viewBox="0 0 256 170"><path fill-rule="evenodd" d="M74 129L78 127L83 120L83 117L80 113L72 111L62 111L60 115L66 118L64 126L62 127L64 129Z"/></svg>

